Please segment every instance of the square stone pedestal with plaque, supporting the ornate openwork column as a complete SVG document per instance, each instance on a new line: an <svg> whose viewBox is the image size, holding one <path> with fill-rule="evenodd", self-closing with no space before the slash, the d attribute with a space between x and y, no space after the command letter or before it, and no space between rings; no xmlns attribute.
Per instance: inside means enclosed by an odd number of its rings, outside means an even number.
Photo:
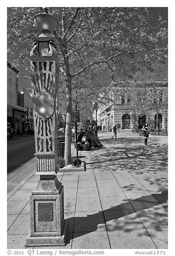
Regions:
<svg viewBox="0 0 175 256"><path fill-rule="evenodd" d="M63 191L56 175L40 175L30 197L31 232L26 246L65 245Z"/></svg>

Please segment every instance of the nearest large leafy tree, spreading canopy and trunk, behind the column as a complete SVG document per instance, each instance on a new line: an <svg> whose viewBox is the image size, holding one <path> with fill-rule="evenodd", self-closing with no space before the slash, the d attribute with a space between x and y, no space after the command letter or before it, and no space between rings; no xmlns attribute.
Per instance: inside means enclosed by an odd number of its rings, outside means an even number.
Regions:
<svg viewBox="0 0 175 256"><path fill-rule="evenodd" d="M32 38L38 34L33 16L41 8L8 8L8 52L17 67L29 67L28 56ZM167 57L167 29L161 16L154 27L149 8L50 8L59 24L54 34L59 45L58 55L67 99L65 129L65 162L70 162L72 84L90 74L91 84L100 79L128 79L150 63L164 62ZM92 73L96 76L92 77ZM29 74L29 72L28 72ZM88 75L87 75L88 76ZM79 79L79 78L78 78ZM84 90L87 84L83 81ZM86 84L86 85L85 85ZM108 86L103 83L100 89ZM93 90L92 90L93 91ZM100 92L100 90L99 90ZM75 100L75 98L74 98Z"/></svg>

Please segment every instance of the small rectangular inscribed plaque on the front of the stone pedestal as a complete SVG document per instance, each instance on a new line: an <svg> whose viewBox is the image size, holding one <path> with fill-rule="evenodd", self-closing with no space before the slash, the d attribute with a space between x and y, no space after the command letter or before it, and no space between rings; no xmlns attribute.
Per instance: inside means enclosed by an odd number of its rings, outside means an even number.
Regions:
<svg viewBox="0 0 175 256"><path fill-rule="evenodd" d="M53 203L38 203L38 221L53 222Z"/></svg>

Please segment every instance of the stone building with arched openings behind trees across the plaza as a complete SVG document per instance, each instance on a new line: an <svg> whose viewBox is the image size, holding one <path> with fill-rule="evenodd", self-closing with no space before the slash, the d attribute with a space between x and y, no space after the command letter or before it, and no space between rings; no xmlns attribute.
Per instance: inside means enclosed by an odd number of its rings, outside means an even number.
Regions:
<svg viewBox="0 0 175 256"><path fill-rule="evenodd" d="M143 81L139 83L141 90L143 84ZM147 122L150 130L154 131L157 127L159 131L167 132L167 85L167 81L156 81L156 91L152 91L151 84L150 86L148 84L146 87L144 86L144 89L149 92L144 99L145 103L147 103L147 108L145 109L139 107L134 109L133 96L130 94L129 87L125 94L123 94L122 87L115 90L115 93L113 92L112 94L111 102L102 104L99 108L98 115L100 118L98 125L101 125L103 131L111 131L116 124L120 127L121 132L132 132L141 129ZM150 102L152 102L152 105ZM142 106L140 98L135 99L135 103L137 106Z"/></svg>

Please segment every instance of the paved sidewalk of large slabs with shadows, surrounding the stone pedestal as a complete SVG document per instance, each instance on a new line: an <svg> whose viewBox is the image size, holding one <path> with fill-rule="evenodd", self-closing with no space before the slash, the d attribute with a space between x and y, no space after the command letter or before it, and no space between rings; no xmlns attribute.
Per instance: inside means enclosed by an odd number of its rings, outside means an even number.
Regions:
<svg viewBox="0 0 175 256"><path fill-rule="evenodd" d="M143 137L98 136L103 148L78 152L86 172L57 175L64 185L68 238L64 247L47 248L167 248L167 138L152 136L144 146ZM8 194L10 249L25 248L29 199L38 179L31 174Z"/></svg>

